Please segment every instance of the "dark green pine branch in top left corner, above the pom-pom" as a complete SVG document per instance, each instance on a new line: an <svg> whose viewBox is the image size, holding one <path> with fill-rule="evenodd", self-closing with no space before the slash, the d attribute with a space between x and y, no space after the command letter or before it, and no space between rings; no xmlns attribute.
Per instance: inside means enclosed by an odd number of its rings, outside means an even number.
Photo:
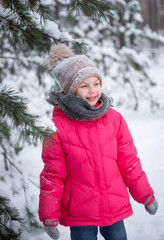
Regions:
<svg viewBox="0 0 164 240"><path fill-rule="evenodd" d="M20 46L27 47L30 50L36 50L40 53L47 53L51 47L52 41L55 44L66 43L71 41L66 39L56 39L50 36L46 30L38 27L38 19L41 23L46 23L47 20L54 21L54 10L46 5L40 4L40 1L18 1L4 0L7 6L7 12L0 14L0 23L2 30L8 35L8 40L14 48L19 51ZM9 14L7 14L9 12ZM53 12L53 14L52 14ZM31 14L33 13L33 15ZM35 15L36 14L36 15ZM39 18L37 18L39 15ZM79 46L79 51L84 48L84 43L79 40L73 40L74 45ZM76 47L77 49L77 47ZM80 50L81 49L81 50Z"/></svg>

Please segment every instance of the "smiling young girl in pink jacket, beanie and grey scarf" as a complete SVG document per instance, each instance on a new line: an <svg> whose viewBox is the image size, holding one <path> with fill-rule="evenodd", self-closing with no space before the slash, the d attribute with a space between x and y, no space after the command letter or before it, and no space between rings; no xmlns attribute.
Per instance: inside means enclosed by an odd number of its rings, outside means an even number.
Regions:
<svg viewBox="0 0 164 240"><path fill-rule="evenodd" d="M85 55L52 47L49 66L62 91L52 92L57 133L43 144L39 217L52 239L58 223L72 240L126 240L129 193L150 214L158 208L127 124L101 92L102 77Z"/></svg>

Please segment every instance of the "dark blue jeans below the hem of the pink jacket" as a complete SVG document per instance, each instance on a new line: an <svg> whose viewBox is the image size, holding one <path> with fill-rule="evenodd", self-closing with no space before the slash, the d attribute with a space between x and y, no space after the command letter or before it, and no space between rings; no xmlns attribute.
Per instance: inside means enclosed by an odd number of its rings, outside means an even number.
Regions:
<svg viewBox="0 0 164 240"><path fill-rule="evenodd" d="M70 227L71 240L97 240L98 227ZM111 226L100 227L100 233L105 240L127 240L124 222L120 221Z"/></svg>

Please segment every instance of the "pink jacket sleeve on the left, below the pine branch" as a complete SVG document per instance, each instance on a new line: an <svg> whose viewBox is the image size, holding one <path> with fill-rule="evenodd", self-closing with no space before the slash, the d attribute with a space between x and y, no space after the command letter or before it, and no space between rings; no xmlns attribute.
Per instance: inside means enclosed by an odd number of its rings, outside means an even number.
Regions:
<svg viewBox="0 0 164 240"><path fill-rule="evenodd" d="M39 218L59 220L64 182L67 177L66 159L58 134L43 142L43 171L40 174Z"/></svg>

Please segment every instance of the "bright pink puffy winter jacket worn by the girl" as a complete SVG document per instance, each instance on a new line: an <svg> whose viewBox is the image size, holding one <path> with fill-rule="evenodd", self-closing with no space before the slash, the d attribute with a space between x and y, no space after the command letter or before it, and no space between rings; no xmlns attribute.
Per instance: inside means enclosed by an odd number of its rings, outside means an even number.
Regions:
<svg viewBox="0 0 164 240"><path fill-rule="evenodd" d="M64 226L108 226L132 214L132 197L144 203L153 190L132 136L112 108L92 121L69 119L54 108L57 134L44 144L39 217Z"/></svg>

